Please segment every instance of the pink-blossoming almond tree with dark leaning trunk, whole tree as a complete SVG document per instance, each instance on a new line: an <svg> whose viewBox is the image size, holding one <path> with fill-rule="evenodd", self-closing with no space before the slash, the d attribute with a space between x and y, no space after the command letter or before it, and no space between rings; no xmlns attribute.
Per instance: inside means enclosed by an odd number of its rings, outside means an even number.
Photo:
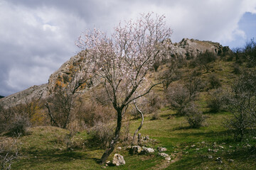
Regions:
<svg viewBox="0 0 256 170"><path fill-rule="evenodd" d="M146 74L159 60L164 40L171 38L165 16L142 14L114 28L110 37L100 30L87 30L77 45L86 50L87 72L102 81L107 96L117 111L117 127L110 146L102 155L105 163L119 139L124 111L129 103L149 93L159 83L149 82Z"/></svg>

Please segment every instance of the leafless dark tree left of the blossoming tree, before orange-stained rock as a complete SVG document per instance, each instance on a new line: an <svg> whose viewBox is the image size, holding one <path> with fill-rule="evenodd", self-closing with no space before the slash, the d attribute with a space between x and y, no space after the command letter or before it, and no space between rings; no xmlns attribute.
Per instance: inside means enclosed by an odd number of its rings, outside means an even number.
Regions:
<svg viewBox="0 0 256 170"><path fill-rule="evenodd" d="M80 67L70 75L70 79L66 84L61 82L56 86L55 93L45 103L51 125L67 128L70 117L74 113L73 108L75 107L78 90L82 85L90 82L91 78L87 77L86 70Z"/></svg>

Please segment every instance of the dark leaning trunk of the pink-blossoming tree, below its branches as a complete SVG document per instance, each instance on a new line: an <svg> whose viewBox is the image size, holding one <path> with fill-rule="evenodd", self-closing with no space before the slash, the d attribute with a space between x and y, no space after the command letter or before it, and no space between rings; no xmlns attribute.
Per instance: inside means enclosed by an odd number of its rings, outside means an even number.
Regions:
<svg viewBox="0 0 256 170"><path fill-rule="evenodd" d="M110 142L110 146L105 150L104 154L102 154L102 158L100 159L101 164L104 164L110 154L113 152L115 145L117 144L117 140L119 139L120 130L122 127L122 110L117 110L117 128L114 132L114 137Z"/></svg>

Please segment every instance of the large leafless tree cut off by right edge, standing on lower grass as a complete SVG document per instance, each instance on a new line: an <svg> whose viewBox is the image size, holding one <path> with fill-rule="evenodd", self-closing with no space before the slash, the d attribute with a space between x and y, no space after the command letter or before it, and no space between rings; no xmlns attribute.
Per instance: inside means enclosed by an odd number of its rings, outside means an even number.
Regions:
<svg viewBox="0 0 256 170"><path fill-rule="evenodd" d="M244 72L233 85L229 94L228 111L233 118L226 125L233 130L235 140L255 133L256 128L256 72Z"/></svg>

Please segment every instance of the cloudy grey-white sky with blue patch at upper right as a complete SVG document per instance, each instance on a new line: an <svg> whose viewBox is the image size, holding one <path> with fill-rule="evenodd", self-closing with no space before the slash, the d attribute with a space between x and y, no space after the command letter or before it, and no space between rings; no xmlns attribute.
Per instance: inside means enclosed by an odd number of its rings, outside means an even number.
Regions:
<svg viewBox="0 0 256 170"><path fill-rule="evenodd" d="M47 83L79 52L83 30L110 33L150 11L166 16L173 42L211 40L232 49L256 38L256 0L0 0L0 95Z"/></svg>

